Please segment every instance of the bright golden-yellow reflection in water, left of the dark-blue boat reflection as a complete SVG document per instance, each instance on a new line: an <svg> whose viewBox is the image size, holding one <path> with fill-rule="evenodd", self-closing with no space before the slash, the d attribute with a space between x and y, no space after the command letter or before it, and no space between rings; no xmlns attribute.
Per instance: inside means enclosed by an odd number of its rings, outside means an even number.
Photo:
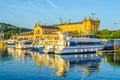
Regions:
<svg viewBox="0 0 120 80"><path fill-rule="evenodd" d="M45 64L47 67L57 69L56 75L58 76L63 76L69 70L69 63L60 56L39 53L32 53L31 55L36 65L42 66Z"/></svg>

